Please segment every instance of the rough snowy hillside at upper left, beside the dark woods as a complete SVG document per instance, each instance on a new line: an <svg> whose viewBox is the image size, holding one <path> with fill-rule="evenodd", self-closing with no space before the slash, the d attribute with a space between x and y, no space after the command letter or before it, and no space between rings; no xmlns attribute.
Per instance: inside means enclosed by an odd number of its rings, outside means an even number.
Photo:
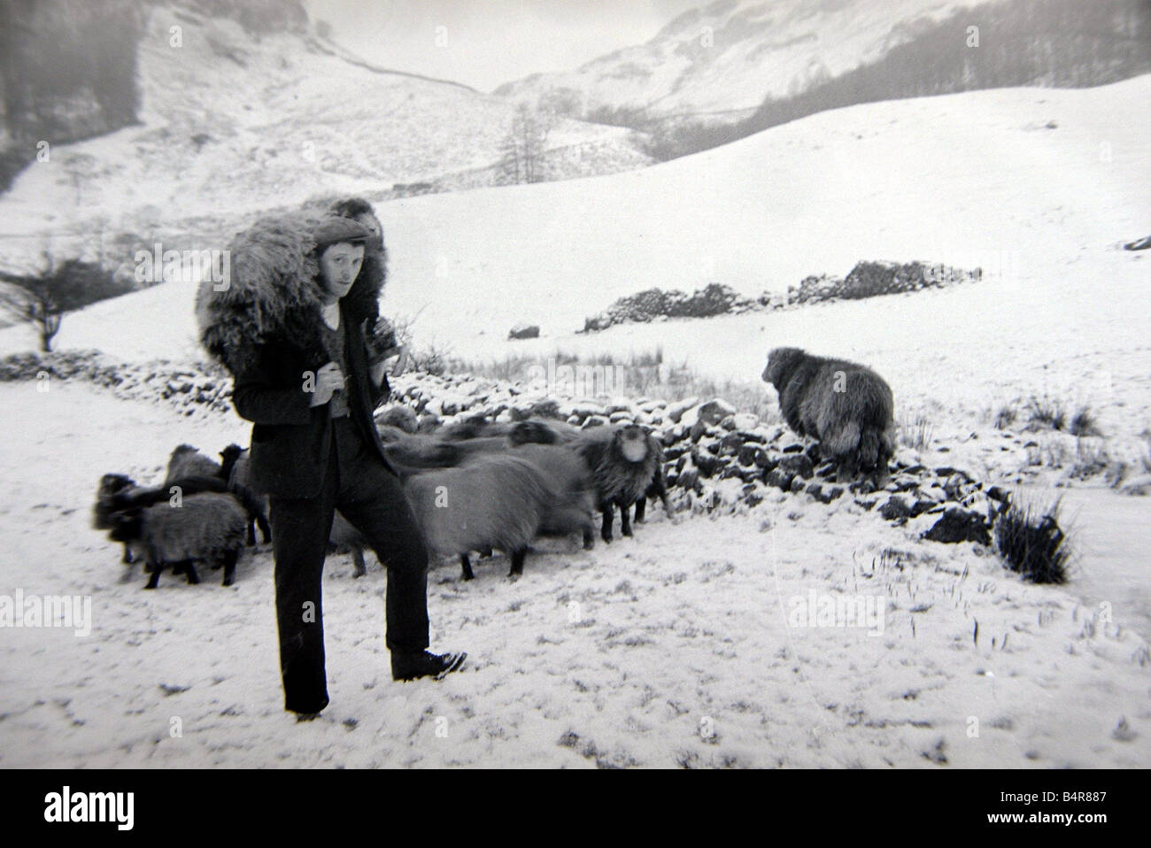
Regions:
<svg viewBox="0 0 1151 848"><path fill-rule="evenodd" d="M139 77L142 125L53 147L30 165L0 197L6 234L51 231L58 249L90 246L102 219L109 234L147 242L185 231L174 222L188 219L489 168L513 112L456 83L372 69L307 33L257 38L177 5L152 9ZM564 121L548 145L567 148L570 173L601 173L647 162L628 136ZM43 242L6 242L6 262Z"/></svg>

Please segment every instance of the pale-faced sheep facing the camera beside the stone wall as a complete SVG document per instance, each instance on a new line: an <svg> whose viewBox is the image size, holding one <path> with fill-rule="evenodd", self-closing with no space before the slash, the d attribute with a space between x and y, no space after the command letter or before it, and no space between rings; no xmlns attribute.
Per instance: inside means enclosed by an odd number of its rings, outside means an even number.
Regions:
<svg viewBox="0 0 1151 848"><path fill-rule="evenodd" d="M619 530L631 536L630 507L647 492L660 464L655 438L639 425L593 427L573 446L592 472L596 506L603 512L601 537L611 542L616 506L619 506Z"/></svg>

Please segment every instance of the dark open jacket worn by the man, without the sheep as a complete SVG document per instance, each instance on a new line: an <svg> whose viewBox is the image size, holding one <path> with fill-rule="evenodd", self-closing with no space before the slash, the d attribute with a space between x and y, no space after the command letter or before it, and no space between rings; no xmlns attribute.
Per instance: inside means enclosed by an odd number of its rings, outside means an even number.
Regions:
<svg viewBox="0 0 1151 848"><path fill-rule="evenodd" d="M341 304L348 359L346 389L350 415L372 453L395 473L383 452L372 412L387 399L387 375L382 387L368 373L364 330ZM252 427L251 486L275 497L315 497L323 484L331 445L329 404L310 406L304 391L305 373L312 370L307 351L285 339L259 345L251 365L235 374L233 403ZM313 379L314 379L314 370Z"/></svg>

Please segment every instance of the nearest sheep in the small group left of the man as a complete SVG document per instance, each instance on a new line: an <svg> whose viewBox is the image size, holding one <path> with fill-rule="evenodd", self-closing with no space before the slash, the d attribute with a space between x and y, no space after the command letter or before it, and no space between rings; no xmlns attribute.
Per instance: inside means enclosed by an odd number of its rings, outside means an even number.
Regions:
<svg viewBox="0 0 1151 848"><path fill-rule="evenodd" d="M154 589L165 566L183 564L189 583L198 583L193 560L223 566L223 586L231 586L236 560L244 547L247 517L236 498L203 492L183 498L180 506L132 506L112 515L109 537L123 542L145 559L152 572L145 589Z"/></svg>

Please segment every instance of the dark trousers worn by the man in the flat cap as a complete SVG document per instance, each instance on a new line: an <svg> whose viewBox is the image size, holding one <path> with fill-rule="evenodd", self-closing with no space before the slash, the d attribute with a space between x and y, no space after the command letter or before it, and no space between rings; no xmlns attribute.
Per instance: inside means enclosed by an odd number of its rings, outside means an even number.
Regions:
<svg viewBox="0 0 1151 848"><path fill-rule="evenodd" d="M314 498L269 498L284 709L328 704L320 578L334 510L367 538L388 571L389 650L428 647L428 553L399 480L369 452L350 418L333 422L323 488Z"/></svg>

